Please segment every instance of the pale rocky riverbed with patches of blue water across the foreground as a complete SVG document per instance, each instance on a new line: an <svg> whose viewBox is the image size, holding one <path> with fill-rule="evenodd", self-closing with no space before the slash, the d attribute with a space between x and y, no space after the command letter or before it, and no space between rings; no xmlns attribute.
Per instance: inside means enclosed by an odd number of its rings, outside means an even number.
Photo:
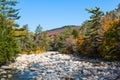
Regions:
<svg viewBox="0 0 120 80"><path fill-rule="evenodd" d="M120 80L120 62L58 52L21 54L14 63L0 68L0 80Z"/></svg>

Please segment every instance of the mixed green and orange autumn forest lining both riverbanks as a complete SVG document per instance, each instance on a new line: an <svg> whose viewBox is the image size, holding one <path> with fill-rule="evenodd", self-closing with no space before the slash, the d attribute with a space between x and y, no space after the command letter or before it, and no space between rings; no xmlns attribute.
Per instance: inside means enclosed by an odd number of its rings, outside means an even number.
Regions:
<svg viewBox="0 0 120 80"><path fill-rule="evenodd" d="M14 61L19 53L46 51L120 60L120 4L106 13L99 7L86 8L91 16L80 24L79 29L66 25L60 34L52 37L48 35L49 30L42 30L41 25L35 32L29 31L28 24L20 28L16 20L22 16L19 16L20 9L15 8L17 4L16 0L0 0L0 65Z"/></svg>

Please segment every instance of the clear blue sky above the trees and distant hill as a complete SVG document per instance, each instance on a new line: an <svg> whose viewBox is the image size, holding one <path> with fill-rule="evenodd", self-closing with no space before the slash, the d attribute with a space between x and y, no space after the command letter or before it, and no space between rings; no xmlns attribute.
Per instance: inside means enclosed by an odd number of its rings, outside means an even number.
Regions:
<svg viewBox="0 0 120 80"><path fill-rule="evenodd" d="M119 3L120 0L19 0L21 18L17 23L28 24L30 31L35 31L39 24L43 30L81 25L90 16L85 8L98 6L106 12L117 8Z"/></svg>

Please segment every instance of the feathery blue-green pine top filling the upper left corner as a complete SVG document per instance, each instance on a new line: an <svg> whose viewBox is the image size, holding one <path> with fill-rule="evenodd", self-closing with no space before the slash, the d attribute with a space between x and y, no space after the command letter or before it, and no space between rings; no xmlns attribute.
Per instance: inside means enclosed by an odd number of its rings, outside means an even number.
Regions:
<svg viewBox="0 0 120 80"><path fill-rule="evenodd" d="M0 13L7 17L7 19L19 19L19 9L14 9L18 2L16 0L0 0Z"/></svg>

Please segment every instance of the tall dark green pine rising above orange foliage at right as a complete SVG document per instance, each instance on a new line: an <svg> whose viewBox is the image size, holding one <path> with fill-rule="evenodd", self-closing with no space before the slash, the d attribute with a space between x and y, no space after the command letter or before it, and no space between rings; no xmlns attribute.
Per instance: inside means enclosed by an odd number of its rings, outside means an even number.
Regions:
<svg viewBox="0 0 120 80"><path fill-rule="evenodd" d="M95 9L86 10L88 11L88 13L92 13L92 15L90 16L91 20L89 20L92 25L90 26L89 37L88 39L86 39L86 41L90 42L89 44L91 44L89 47L89 49L91 50L91 52L89 51L91 53L91 56L96 56L99 53L98 47L100 45L100 36L98 34L98 30L102 26L100 21L101 17L103 16L103 12L98 7L95 7Z"/></svg>

